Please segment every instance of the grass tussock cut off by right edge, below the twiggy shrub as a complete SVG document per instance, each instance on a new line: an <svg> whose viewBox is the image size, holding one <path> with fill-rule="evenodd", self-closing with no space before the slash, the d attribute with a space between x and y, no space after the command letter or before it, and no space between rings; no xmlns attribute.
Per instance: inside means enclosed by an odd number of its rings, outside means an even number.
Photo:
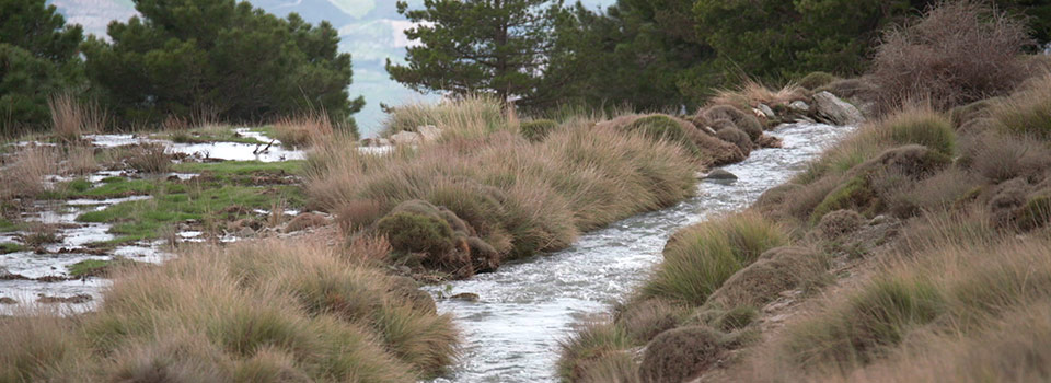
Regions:
<svg viewBox="0 0 1051 383"><path fill-rule="evenodd" d="M1051 74L990 108L994 126L1020 136L1051 139Z"/></svg>

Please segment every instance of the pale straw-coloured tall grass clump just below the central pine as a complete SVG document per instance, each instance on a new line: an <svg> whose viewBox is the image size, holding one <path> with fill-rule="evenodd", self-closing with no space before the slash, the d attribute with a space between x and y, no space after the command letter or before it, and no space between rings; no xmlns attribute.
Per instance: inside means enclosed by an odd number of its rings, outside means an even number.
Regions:
<svg viewBox="0 0 1051 383"><path fill-rule="evenodd" d="M434 125L441 129L443 139L480 138L496 131L517 131L518 121L512 116L513 112L505 111L504 102L487 94L443 100L438 104L408 104L389 112L380 137Z"/></svg>

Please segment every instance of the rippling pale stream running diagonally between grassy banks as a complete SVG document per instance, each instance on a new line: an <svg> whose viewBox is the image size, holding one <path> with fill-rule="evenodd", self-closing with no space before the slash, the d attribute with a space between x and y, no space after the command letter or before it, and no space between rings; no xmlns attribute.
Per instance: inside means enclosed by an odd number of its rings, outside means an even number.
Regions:
<svg viewBox="0 0 1051 383"><path fill-rule="evenodd" d="M556 381L558 341L569 335L574 323L608 311L642 282L660 260L671 233L748 206L804 170L850 130L821 124L783 125L773 135L784 139L784 148L758 150L744 162L724 167L739 177L736 182L702 182L695 198L581 235L570 248L431 287L436 297L480 295L477 302L438 300L440 312L457 317L465 347L450 376L435 382Z"/></svg>

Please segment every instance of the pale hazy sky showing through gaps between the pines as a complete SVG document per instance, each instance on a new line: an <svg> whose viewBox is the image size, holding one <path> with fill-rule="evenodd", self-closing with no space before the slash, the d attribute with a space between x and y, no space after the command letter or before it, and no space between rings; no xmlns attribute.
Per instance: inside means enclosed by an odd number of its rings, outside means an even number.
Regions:
<svg viewBox="0 0 1051 383"><path fill-rule="evenodd" d="M582 0L589 8L612 4L615 0ZM408 0L409 9L420 8L424 0ZM567 1L569 2L569 1ZM131 0L49 0L68 23L84 26L86 33L105 35L112 20L125 21L136 14ZM390 79L383 68L386 59L404 62L409 42L402 33L412 26L397 13L395 0L254 0L255 7L279 16L296 12L311 23L327 20L339 30L339 50L350 53L354 60L354 84L350 97L363 95L366 107L357 118L362 137L379 131L384 118L380 103L401 105L437 100L435 94L419 94Z"/></svg>

